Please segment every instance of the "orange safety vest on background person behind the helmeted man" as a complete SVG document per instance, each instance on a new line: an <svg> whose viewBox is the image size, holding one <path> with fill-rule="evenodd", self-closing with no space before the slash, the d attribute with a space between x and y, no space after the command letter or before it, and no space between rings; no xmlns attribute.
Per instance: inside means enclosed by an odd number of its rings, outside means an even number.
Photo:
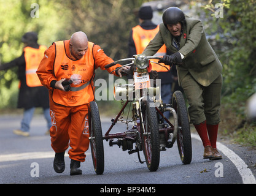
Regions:
<svg viewBox="0 0 256 196"><path fill-rule="evenodd" d="M155 29L143 29L141 26L137 25L133 28L133 40L136 47L137 54L141 54L145 47L149 44L150 40L152 40L157 32L159 31L159 25ZM162 57L166 55L166 46L163 45L155 54L155 56ZM158 59L151 59L151 61L158 62ZM165 64L161 64L162 66L170 69L169 66ZM168 70L165 67L159 66L158 64L152 63L152 70L157 70L157 72L167 72Z"/></svg>

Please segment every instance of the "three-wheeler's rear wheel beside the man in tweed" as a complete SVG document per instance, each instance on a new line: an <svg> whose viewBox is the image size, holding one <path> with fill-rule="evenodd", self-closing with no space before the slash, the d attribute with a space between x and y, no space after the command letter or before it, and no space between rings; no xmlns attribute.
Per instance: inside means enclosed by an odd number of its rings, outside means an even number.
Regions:
<svg viewBox="0 0 256 196"><path fill-rule="evenodd" d="M183 94L180 91L175 91L173 94L173 108L176 110L178 118L177 145L180 159L183 164L190 164L192 160L190 125L187 106Z"/></svg>

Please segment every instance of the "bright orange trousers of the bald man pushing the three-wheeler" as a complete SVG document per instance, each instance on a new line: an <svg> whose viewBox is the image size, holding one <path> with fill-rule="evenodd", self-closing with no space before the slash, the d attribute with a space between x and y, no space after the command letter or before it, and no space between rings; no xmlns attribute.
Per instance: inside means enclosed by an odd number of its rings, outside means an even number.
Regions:
<svg viewBox="0 0 256 196"><path fill-rule="evenodd" d="M51 103L50 114L52 117L50 136L55 153L66 151L70 146L69 157L80 162L85 161L85 151L90 143L88 105L63 107Z"/></svg>

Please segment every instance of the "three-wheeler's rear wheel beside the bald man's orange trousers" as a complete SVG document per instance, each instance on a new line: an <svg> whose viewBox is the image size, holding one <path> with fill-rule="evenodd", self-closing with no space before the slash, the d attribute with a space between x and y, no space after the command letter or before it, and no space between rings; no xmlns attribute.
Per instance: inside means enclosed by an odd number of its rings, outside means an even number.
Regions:
<svg viewBox="0 0 256 196"><path fill-rule="evenodd" d="M104 148L101 119L99 118L99 110L96 102L90 102L89 105L89 129L93 166L96 174L101 175L104 171Z"/></svg>

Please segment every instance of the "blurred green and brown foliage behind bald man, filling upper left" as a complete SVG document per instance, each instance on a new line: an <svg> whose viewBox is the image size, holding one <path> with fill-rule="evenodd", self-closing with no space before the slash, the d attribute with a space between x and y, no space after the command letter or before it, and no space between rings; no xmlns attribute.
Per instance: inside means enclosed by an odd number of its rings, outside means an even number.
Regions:
<svg viewBox="0 0 256 196"><path fill-rule="evenodd" d="M134 9L145 0L0 0L0 62L10 62L22 53L21 37L35 31L39 44L49 47L52 42L66 40L76 31L84 31L91 42L100 45L113 59L126 58L128 36L138 24ZM38 18L33 16L37 4ZM0 71L0 98L14 96L17 67ZM96 78L107 78L107 72L97 70ZM15 90L17 92L17 89ZM16 93L17 94L17 93ZM11 104L2 102L0 108ZM12 104L17 105L17 104Z"/></svg>

